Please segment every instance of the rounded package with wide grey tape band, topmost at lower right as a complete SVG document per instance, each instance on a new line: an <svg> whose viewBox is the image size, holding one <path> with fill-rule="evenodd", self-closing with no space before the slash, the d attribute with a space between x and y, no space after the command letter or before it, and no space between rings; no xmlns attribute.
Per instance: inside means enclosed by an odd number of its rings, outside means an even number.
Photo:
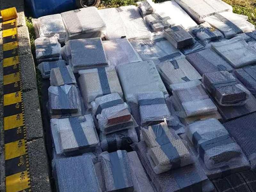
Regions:
<svg viewBox="0 0 256 192"><path fill-rule="evenodd" d="M189 124L186 134L208 169L236 165L242 150L217 119Z"/></svg>

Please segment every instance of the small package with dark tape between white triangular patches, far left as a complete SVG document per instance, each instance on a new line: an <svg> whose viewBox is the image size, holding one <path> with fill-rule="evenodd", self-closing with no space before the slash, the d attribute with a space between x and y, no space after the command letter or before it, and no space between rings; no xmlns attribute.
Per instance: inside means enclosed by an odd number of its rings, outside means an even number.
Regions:
<svg viewBox="0 0 256 192"><path fill-rule="evenodd" d="M79 100L75 85L50 86L48 89L49 109L53 115L77 113Z"/></svg>

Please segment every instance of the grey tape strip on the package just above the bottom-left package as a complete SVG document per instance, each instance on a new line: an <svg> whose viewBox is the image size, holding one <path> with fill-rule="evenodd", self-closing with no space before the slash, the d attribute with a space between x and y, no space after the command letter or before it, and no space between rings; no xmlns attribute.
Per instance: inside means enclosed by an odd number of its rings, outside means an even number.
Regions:
<svg viewBox="0 0 256 192"><path fill-rule="evenodd" d="M88 146L88 140L86 139L86 135L84 134L84 130L81 126L82 122L86 122L86 118L83 117L81 119L81 117L70 117L69 122L71 124L71 128L76 138L78 147Z"/></svg>

